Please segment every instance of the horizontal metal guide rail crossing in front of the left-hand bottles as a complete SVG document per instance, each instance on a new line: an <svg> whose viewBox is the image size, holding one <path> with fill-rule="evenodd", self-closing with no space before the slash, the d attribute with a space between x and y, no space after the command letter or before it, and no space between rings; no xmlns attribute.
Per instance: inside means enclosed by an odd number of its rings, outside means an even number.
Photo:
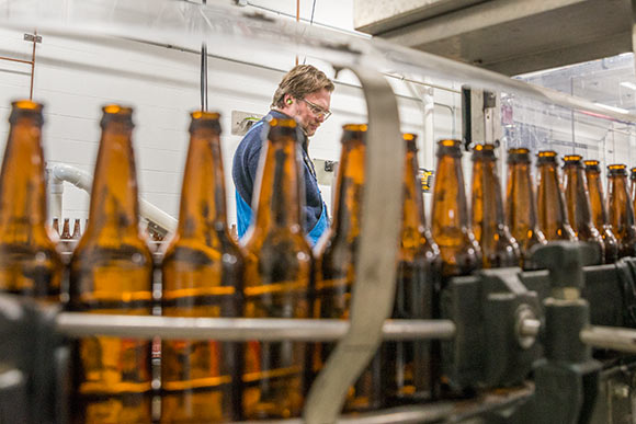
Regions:
<svg viewBox="0 0 636 424"><path fill-rule="evenodd" d="M71 336L91 334L151 339L216 339L331 341L349 330L343 320L293 320L247 318L172 318L109 316L63 312L56 330ZM448 320L388 320L383 325L385 340L452 339L455 324Z"/></svg>

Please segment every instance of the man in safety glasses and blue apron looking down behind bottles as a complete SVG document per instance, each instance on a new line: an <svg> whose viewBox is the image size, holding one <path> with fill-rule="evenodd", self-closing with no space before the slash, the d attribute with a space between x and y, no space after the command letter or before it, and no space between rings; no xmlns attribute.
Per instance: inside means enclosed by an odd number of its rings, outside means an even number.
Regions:
<svg viewBox="0 0 636 424"><path fill-rule="evenodd" d="M268 136L266 121L294 118L303 129L303 173L305 179L305 232L315 244L329 227L327 207L318 190L316 170L307 153L309 137L331 115L333 83L322 71L311 65L294 67L279 84L270 113L255 123L239 144L234 157L231 175L236 186L238 233L242 237L251 219L254 179L261 156L261 147Z"/></svg>

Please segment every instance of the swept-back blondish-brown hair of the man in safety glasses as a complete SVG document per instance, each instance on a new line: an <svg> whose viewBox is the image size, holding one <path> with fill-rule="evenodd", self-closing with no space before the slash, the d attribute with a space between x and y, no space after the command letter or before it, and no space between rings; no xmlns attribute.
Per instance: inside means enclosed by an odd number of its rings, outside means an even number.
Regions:
<svg viewBox="0 0 636 424"><path fill-rule="evenodd" d="M283 77L274 93L271 106L285 107L285 94L295 99L304 99L307 94L322 89L329 92L334 89L333 82L327 78L325 72L311 65L296 65Z"/></svg>

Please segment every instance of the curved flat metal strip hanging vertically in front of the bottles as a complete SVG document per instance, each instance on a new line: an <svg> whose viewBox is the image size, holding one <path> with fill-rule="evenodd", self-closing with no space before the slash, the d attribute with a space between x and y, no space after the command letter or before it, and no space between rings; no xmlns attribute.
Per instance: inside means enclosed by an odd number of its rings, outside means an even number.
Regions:
<svg viewBox="0 0 636 424"><path fill-rule="evenodd" d="M355 263L351 326L311 386L304 419L334 423L345 393L382 342L382 325L395 295L396 257L401 222L405 146L399 131L397 101L384 77L357 66L368 111L362 230Z"/></svg>

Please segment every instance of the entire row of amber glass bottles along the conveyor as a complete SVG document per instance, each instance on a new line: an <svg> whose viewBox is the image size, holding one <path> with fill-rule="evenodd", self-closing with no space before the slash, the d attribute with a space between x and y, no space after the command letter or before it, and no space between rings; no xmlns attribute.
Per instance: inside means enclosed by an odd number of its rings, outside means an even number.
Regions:
<svg viewBox="0 0 636 424"><path fill-rule="evenodd" d="M133 111L109 105L103 112L90 220L71 259L67 308L150 314L152 261L139 231ZM63 267L45 222L42 106L16 102L10 122L0 175L0 289L57 301ZM161 264L161 313L349 317L367 127L344 126L333 225L315 252L302 226L298 127L291 119L272 119L269 127L257 175L254 218L239 248L227 226L219 115L192 114L179 227ZM439 297L447 278L480 267L532 267L530 248L546 240L576 240L578 233L597 243L606 261L611 261L607 245L612 240L620 255L634 254L636 241L631 240L636 240L636 227L625 165L610 167L605 219L598 162L586 162L583 179L580 157L569 157L564 196L556 153L540 152L535 209L530 152L514 149L508 160L503 206L493 147L478 145L473 157L469 211L461 144L441 140L429 231L417 176L414 136L405 135L404 142L405 200L394 318L439 318ZM329 343L163 341L161 421L298 416L306 388L332 347ZM345 410L365 411L438 397L446 382L439 362L439 343L383 344L351 388ZM72 422L150 422L154 393L148 341L79 339L72 378Z"/></svg>

